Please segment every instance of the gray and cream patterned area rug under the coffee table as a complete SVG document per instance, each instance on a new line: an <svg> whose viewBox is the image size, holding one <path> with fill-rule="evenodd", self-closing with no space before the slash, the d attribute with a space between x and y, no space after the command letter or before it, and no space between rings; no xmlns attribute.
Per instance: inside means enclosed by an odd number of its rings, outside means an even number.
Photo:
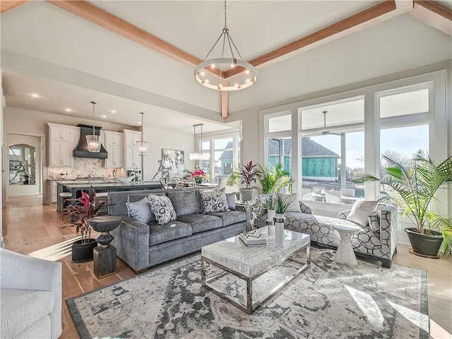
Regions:
<svg viewBox="0 0 452 339"><path fill-rule="evenodd" d="M364 261L348 267L333 257L311 249L311 266L251 315L201 285L199 254L66 302L81 338L429 338L424 271ZM293 265L262 275L254 296ZM245 298L232 275L218 287Z"/></svg>

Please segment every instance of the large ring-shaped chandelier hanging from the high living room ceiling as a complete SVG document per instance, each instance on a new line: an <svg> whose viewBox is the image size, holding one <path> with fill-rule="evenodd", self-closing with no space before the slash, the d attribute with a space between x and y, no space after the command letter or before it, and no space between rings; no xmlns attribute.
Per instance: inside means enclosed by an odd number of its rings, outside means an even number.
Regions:
<svg viewBox="0 0 452 339"><path fill-rule="evenodd" d="M257 71L253 65L243 61L242 55L235 47L226 23L226 0L225 0L225 26L213 47L210 49L201 64L195 69L195 78L204 87L213 90L243 90L254 83L257 79ZM220 58L207 59L215 46L222 38L222 52ZM226 44L227 42L227 44ZM225 57L225 47L230 51L231 57ZM227 48L229 47L229 49ZM234 55L235 51L235 55ZM237 59L237 56L240 59Z"/></svg>

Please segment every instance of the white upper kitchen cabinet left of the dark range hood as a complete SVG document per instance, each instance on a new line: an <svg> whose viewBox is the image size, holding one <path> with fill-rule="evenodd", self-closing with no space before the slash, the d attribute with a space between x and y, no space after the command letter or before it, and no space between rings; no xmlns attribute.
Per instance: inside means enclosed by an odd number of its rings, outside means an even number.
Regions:
<svg viewBox="0 0 452 339"><path fill-rule="evenodd" d="M49 125L49 166L73 166L73 149L78 143L79 128Z"/></svg>

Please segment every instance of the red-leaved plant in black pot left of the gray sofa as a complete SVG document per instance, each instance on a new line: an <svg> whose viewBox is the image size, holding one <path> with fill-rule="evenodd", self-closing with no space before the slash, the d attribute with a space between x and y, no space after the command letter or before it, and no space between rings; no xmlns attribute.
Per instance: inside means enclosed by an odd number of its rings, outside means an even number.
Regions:
<svg viewBox="0 0 452 339"><path fill-rule="evenodd" d="M61 218L69 217L59 228L76 227L76 232L81 234L81 239L72 244L72 261L81 263L93 260L93 249L97 246L95 239L91 239L91 227L88 219L95 217L100 208L105 206L105 201L95 199L95 190L90 186L88 194L82 191L78 199L69 199L72 203L60 213Z"/></svg>

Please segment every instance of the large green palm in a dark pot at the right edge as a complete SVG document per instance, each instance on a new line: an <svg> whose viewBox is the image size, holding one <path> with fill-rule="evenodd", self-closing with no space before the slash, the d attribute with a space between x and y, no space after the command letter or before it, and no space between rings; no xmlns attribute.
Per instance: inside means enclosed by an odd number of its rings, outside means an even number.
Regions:
<svg viewBox="0 0 452 339"><path fill-rule="evenodd" d="M388 194L416 225L405 228L413 254L438 258L444 241L444 254L451 255L452 218L435 213L431 207L438 202L436 191L452 183L452 157L436 164L420 151L412 158L387 154L383 159L388 162L383 178L367 174L359 182L380 181L391 187Z"/></svg>

